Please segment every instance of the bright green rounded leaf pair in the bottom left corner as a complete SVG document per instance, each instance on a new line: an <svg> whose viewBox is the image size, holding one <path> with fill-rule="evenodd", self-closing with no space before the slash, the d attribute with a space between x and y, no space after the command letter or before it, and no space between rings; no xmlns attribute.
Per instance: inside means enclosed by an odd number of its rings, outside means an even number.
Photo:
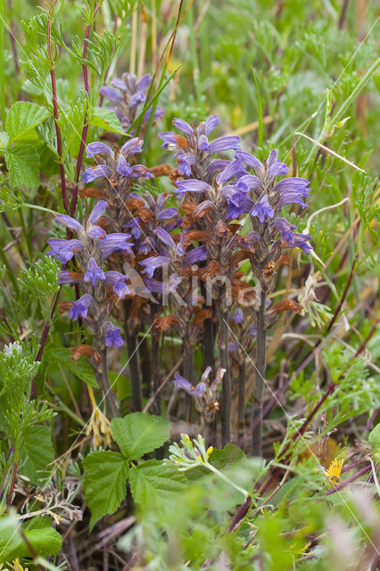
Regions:
<svg viewBox="0 0 380 571"><path fill-rule="evenodd" d="M49 517L34 517L28 525L22 525L29 544L37 552L37 555L47 557L57 555L62 549L62 537L52 527ZM28 545L21 535L15 532L11 526L1 530L0 535L0 564L11 559L31 557Z"/></svg>

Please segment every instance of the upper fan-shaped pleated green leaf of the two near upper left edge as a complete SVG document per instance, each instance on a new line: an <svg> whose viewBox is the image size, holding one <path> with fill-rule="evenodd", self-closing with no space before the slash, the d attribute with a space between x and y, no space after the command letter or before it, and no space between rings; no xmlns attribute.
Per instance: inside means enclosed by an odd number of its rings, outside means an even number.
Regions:
<svg viewBox="0 0 380 571"><path fill-rule="evenodd" d="M45 121L49 115L49 110L37 105L37 103L18 101L13 103L9 110L5 121L6 132L12 142L21 138L27 138L30 136L32 129Z"/></svg>

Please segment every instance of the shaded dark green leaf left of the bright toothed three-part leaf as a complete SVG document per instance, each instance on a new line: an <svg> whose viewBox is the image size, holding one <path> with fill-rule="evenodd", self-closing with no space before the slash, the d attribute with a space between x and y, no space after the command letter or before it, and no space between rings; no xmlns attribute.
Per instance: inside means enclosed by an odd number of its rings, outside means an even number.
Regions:
<svg viewBox="0 0 380 571"><path fill-rule="evenodd" d="M35 425L28 428L22 441L20 459L23 461L20 468L22 476L28 476L32 484L45 484L50 474L45 468L54 460L49 426Z"/></svg>

